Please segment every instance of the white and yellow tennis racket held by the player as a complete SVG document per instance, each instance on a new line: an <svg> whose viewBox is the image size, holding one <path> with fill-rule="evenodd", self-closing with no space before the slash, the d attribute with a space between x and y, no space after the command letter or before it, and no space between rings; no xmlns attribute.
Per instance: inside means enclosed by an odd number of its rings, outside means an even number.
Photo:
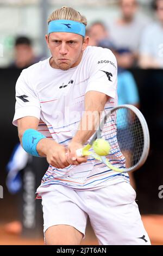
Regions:
<svg viewBox="0 0 163 256"><path fill-rule="evenodd" d="M106 156L93 151L93 142L99 138L105 139L110 145ZM77 149L76 154L78 157L93 157L115 172L130 172L145 163L149 144L148 126L142 113L132 105L121 105L105 114L89 144Z"/></svg>

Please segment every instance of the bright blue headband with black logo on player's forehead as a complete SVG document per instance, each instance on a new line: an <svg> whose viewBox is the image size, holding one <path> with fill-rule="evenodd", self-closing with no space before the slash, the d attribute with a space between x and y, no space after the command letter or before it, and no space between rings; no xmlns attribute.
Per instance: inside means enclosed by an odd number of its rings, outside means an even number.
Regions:
<svg viewBox="0 0 163 256"><path fill-rule="evenodd" d="M68 32L85 36L85 25L71 20L54 20L48 25L48 34L52 32Z"/></svg>

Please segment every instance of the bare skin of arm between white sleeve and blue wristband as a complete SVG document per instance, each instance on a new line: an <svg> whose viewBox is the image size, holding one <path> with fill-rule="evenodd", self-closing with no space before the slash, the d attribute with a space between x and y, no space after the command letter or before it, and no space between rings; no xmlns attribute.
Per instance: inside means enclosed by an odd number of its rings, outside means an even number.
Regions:
<svg viewBox="0 0 163 256"><path fill-rule="evenodd" d="M39 125L39 119L36 117L23 117L17 120L18 127L18 137L20 138L20 142L22 143L22 136L24 131L27 129L37 130Z"/></svg>

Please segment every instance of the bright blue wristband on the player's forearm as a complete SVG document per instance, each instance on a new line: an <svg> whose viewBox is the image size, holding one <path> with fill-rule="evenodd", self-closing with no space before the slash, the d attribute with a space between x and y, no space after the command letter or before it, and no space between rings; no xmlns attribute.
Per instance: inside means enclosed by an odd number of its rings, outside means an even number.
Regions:
<svg viewBox="0 0 163 256"><path fill-rule="evenodd" d="M23 149L32 156L39 156L36 147L37 143L43 138L46 137L34 129L26 130L22 137Z"/></svg>

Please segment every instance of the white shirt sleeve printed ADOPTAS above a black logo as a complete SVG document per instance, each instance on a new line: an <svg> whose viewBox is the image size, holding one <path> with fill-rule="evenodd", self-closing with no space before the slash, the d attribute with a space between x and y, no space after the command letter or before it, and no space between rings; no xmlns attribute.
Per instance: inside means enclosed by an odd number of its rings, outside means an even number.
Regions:
<svg viewBox="0 0 163 256"><path fill-rule="evenodd" d="M91 66L86 92L95 90L115 99L117 91L117 61L108 49L101 49Z"/></svg>

